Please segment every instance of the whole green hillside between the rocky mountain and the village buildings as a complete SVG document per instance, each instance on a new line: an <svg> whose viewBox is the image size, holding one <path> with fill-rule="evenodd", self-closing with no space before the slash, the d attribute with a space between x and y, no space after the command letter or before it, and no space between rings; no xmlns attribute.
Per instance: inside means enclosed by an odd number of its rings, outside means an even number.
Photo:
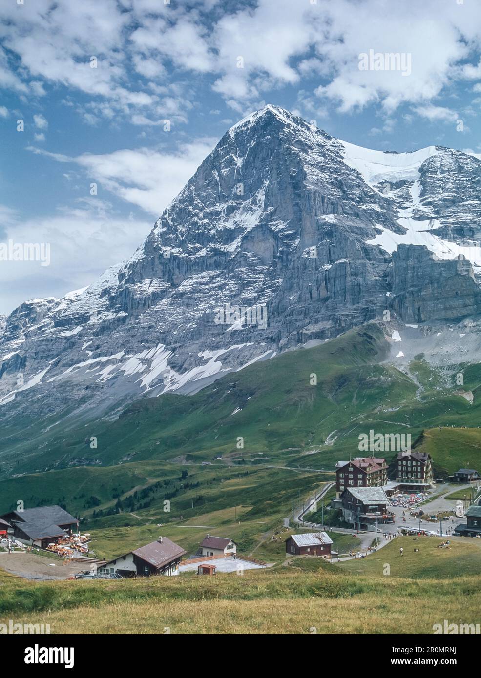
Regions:
<svg viewBox="0 0 481 678"><path fill-rule="evenodd" d="M0 454L0 511L18 500L62 504L90 520L95 511L94 524L108 527L166 522L168 499L171 521L236 505L285 517L296 497L332 479L314 471L332 473L336 460L358 455L358 436L371 428L410 433L433 456L436 477L480 467L481 429L461 428L481 420L480 366L464 370L470 404L443 390L421 357L405 374L383 363L386 353L381 327L370 323L227 374L196 395L144 398L117 420L69 433L59 425L43 441L25 435L22 447Z"/></svg>

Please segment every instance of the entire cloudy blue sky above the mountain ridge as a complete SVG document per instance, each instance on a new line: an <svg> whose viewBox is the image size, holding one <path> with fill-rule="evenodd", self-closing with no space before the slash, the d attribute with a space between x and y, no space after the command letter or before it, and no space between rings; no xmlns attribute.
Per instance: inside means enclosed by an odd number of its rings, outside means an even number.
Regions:
<svg viewBox="0 0 481 678"><path fill-rule="evenodd" d="M481 151L479 0L3 0L0 20L0 243L52 251L0 262L0 313L128 258L266 103L369 148ZM370 49L410 75L361 71Z"/></svg>

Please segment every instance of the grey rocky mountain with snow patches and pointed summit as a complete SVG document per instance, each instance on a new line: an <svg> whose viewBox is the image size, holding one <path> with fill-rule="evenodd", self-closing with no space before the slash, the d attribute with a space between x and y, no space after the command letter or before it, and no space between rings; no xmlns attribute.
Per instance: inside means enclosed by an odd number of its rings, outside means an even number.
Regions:
<svg viewBox="0 0 481 678"><path fill-rule="evenodd" d="M383 153L266 106L234 125L127 262L0 319L0 420L79 422L193 393L388 309L480 313L481 161Z"/></svg>

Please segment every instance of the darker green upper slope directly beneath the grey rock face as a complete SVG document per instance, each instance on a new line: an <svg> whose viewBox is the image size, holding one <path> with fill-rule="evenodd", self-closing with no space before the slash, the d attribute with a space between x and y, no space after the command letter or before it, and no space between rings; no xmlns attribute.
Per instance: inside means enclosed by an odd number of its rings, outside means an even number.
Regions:
<svg viewBox="0 0 481 678"><path fill-rule="evenodd" d="M386 349L381 328L372 324L250 365L196 395L140 399L113 422L82 424L68 433L62 433L62 424L37 436L30 431L21 445L7 446L0 455L1 473L177 456L279 458L289 449L312 450L336 428L347 429L353 418L374 413L379 403L402 404L413 397L417 387L406 375L379 364Z"/></svg>

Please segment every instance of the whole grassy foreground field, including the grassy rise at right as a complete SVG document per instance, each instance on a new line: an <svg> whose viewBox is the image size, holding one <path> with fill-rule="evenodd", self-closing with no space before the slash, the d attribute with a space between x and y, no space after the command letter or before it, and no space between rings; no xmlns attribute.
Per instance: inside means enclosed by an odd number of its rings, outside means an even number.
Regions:
<svg viewBox="0 0 481 678"><path fill-rule="evenodd" d="M362 561L332 565L294 558L242 576L39 584L0 572L0 622L45 623L51 633L87 634L382 634L414 629L429 634L444 619L479 623L481 545L457 541L443 551L436 549L440 541L415 542L421 542L420 559L410 551L410 538L400 538ZM406 555L396 567L400 544ZM436 573L426 570L431 556L439 556ZM383 576L382 565L389 562L391 576Z"/></svg>

